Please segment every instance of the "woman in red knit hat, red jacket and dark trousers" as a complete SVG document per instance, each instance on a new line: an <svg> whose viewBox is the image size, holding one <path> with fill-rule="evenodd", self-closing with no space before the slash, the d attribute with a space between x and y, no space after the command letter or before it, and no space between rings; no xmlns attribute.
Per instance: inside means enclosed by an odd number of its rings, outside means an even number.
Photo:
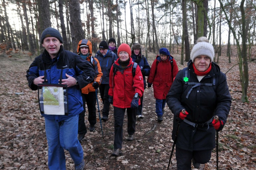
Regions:
<svg viewBox="0 0 256 170"><path fill-rule="evenodd" d="M109 102L114 106L114 150L112 156L122 153L123 119L127 109L128 141L134 139L136 112L140 105L139 98L144 93L143 77L137 65L133 75L133 60L128 44L118 47L119 58L114 62L109 74Z"/></svg>

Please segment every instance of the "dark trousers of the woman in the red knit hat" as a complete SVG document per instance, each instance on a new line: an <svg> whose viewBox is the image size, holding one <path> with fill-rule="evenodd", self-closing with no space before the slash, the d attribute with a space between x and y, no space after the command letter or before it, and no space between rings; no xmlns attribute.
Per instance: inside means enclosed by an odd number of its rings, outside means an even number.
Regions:
<svg viewBox="0 0 256 170"><path fill-rule="evenodd" d="M123 143L123 119L127 109L127 132L129 135L135 133L136 110L131 108L117 108L114 106L114 149L122 148Z"/></svg>

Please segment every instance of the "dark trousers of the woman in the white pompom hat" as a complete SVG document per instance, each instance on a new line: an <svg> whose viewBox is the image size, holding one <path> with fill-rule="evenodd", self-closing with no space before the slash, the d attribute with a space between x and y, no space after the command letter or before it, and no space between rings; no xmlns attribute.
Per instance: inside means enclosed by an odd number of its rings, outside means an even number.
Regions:
<svg viewBox="0 0 256 170"><path fill-rule="evenodd" d="M176 160L178 170L191 170L191 160L195 159L195 162L205 164L209 162L212 156L212 150L194 150L188 151L176 147Z"/></svg>

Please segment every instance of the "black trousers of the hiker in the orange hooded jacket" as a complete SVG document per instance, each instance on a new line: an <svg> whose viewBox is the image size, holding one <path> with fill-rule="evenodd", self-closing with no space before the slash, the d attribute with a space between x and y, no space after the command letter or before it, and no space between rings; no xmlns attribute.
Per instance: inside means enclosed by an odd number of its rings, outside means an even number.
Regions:
<svg viewBox="0 0 256 170"><path fill-rule="evenodd" d="M88 94L82 94L84 111L79 114L78 118L78 134L87 133L87 129L84 123L85 103L88 108L88 121L90 125L96 124L96 93L89 92Z"/></svg>

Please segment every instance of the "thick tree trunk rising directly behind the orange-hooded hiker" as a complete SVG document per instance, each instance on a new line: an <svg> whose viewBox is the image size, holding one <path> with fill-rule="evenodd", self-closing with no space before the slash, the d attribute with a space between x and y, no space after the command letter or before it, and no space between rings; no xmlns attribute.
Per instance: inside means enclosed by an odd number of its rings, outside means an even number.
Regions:
<svg viewBox="0 0 256 170"><path fill-rule="evenodd" d="M82 21L80 16L80 2L79 0L72 0L69 2L69 15L70 15L70 31L72 39L72 51L76 53L77 44L84 37L82 28Z"/></svg>

